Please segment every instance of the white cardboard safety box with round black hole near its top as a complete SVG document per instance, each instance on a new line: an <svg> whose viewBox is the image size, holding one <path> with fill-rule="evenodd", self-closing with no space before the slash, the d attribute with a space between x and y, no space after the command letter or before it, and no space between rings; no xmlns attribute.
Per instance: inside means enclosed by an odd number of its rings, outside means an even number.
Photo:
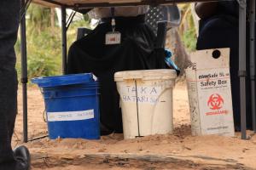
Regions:
<svg viewBox="0 0 256 170"><path fill-rule="evenodd" d="M186 69L192 135L234 136L230 86L230 49L191 54Z"/></svg>

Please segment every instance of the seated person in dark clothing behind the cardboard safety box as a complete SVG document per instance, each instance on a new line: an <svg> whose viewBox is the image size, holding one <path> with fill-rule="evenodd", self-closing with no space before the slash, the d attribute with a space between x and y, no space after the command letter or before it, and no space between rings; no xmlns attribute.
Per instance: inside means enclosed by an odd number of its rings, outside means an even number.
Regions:
<svg viewBox="0 0 256 170"><path fill-rule="evenodd" d="M230 48L230 79L236 131L239 131L241 127L240 79L238 77L238 8L238 3L235 0L195 3L195 12L201 18L196 48ZM247 62L248 64L249 62ZM247 78L247 127L252 128L249 91L250 83Z"/></svg>

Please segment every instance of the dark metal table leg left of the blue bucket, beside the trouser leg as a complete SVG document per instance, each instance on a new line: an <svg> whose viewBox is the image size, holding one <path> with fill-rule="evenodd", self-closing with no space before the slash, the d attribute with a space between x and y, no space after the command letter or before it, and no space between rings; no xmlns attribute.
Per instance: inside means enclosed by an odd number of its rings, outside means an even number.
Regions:
<svg viewBox="0 0 256 170"><path fill-rule="evenodd" d="M21 6L24 6L25 0L21 0ZM26 11L21 8L23 14L20 20L20 43L21 43L21 83L22 83L22 100L23 100L23 141L27 142L27 65L26 65Z"/></svg>

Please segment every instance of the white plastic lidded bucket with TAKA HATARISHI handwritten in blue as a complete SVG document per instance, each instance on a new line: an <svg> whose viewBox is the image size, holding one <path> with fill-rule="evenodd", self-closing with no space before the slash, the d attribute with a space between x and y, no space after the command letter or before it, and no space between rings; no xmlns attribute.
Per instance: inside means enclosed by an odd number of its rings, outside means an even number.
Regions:
<svg viewBox="0 0 256 170"><path fill-rule="evenodd" d="M174 70L120 71L114 74L120 95L125 139L172 133Z"/></svg>

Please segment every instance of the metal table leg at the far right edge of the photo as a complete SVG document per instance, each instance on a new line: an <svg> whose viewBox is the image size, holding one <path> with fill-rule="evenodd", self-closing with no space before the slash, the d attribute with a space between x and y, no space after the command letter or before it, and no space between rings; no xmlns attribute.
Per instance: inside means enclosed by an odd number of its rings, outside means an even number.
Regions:
<svg viewBox="0 0 256 170"><path fill-rule="evenodd" d="M250 1L250 78L253 131L256 133L256 99L255 99L255 0Z"/></svg>

